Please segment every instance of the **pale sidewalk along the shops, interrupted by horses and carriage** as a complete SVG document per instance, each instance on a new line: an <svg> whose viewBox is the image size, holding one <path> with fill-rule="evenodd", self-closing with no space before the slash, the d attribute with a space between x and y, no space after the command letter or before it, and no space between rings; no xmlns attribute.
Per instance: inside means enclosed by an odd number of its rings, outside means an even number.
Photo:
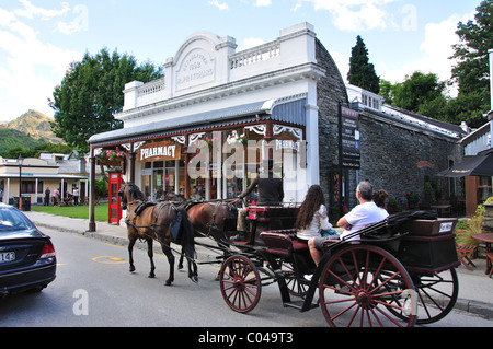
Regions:
<svg viewBox="0 0 493 349"><path fill-rule="evenodd" d="M89 220L72 219L35 211L26 211L24 214L42 230L43 228L49 228L61 232L82 234L115 245L126 246L128 244L127 229L125 225L119 226L105 222L96 222L96 231L88 232ZM160 248L157 245L158 244L154 244L154 248ZM136 247L147 248L147 245L137 241ZM160 249L157 249L156 252L161 253ZM200 253L199 248L197 248L197 255L199 260L207 260L209 258L207 251ZM489 278L488 275L484 274L486 268L485 259L477 258L473 263L477 266L473 270L468 270L462 265L457 268L459 277L459 298L455 309L488 317L493 321L493 277Z"/></svg>

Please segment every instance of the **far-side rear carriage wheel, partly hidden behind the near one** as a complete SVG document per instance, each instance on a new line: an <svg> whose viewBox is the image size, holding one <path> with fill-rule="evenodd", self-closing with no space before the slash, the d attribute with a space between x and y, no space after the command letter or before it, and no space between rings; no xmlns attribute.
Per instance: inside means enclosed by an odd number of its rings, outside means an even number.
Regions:
<svg viewBox="0 0 493 349"><path fill-rule="evenodd" d="M435 275L412 275L417 289L416 324L437 322L454 309L459 295L459 279L455 268ZM405 314L395 313L401 318Z"/></svg>

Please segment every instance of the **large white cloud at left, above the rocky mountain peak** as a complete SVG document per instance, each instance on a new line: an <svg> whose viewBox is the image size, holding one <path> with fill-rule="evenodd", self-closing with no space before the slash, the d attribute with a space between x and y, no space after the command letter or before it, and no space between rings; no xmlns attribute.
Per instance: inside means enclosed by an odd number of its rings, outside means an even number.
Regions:
<svg viewBox="0 0 493 349"><path fill-rule="evenodd" d="M28 1L23 3L26 5ZM9 12L0 9L0 118L3 120L15 118L30 108L51 115L47 100L53 97L70 62L82 58L80 53L39 40L39 33L24 20L31 21L30 15L55 16L55 12L42 10L26 7L24 12Z"/></svg>

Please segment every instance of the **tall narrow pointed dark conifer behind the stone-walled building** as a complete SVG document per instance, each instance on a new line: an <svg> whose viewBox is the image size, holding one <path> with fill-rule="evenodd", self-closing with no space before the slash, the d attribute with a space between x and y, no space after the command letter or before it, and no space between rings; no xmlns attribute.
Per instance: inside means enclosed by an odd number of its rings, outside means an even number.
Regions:
<svg viewBox="0 0 493 349"><path fill-rule="evenodd" d="M380 90L380 78L375 72L374 65L369 62L368 49L359 35L356 37L356 46L351 50L347 81L377 94Z"/></svg>

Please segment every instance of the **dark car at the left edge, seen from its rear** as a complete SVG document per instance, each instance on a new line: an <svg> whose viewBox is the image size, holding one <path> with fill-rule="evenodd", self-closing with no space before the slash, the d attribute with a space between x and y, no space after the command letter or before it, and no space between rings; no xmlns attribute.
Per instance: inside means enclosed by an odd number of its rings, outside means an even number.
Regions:
<svg viewBox="0 0 493 349"><path fill-rule="evenodd" d="M0 296L41 291L55 280L55 247L16 208L0 202Z"/></svg>

